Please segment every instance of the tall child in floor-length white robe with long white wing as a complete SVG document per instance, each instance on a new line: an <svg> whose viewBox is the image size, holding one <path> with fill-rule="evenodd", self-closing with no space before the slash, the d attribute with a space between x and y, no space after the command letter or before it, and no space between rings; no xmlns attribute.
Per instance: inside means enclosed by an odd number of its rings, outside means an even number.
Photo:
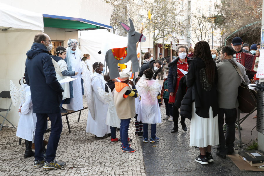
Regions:
<svg viewBox="0 0 264 176"><path fill-rule="evenodd" d="M104 64L93 64L94 74L90 75L86 64L82 64L84 79L84 94L89 108L86 132L95 135L95 138L107 138L110 126L106 125L108 104L99 96L98 88L105 88L105 80L101 73L105 72Z"/></svg>

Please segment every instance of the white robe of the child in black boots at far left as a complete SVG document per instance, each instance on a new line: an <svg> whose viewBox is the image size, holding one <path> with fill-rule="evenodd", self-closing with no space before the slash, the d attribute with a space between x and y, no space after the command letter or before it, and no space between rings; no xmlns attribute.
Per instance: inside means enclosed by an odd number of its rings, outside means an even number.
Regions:
<svg viewBox="0 0 264 176"><path fill-rule="evenodd" d="M32 141L34 139L37 116L33 113L30 87L25 84L26 101L21 107L20 118L16 130L16 136ZM19 107L21 104L19 105Z"/></svg>

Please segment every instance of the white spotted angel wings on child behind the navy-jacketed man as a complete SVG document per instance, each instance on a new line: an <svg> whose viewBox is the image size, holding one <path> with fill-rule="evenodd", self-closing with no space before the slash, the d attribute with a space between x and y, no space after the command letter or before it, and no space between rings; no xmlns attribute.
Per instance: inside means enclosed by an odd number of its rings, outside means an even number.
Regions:
<svg viewBox="0 0 264 176"><path fill-rule="evenodd" d="M13 81L10 80L10 96L13 102L13 106L17 105L19 98L22 104L24 104L26 101L26 92L25 92L25 87L23 84L23 79L21 79L20 84L21 84L21 87L20 89L18 89L16 87L16 84L14 84Z"/></svg>

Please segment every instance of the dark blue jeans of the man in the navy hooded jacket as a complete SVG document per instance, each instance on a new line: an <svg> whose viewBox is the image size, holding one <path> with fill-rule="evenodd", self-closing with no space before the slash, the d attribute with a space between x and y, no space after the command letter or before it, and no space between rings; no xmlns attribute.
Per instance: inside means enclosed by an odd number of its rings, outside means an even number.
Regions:
<svg viewBox="0 0 264 176"><path fill-rule="evenodd" d="M42 161L44 159L44 155L42 153L42 143L43 143L43 135L46 131L46 121L47 118L50 118L51 122L51 132L50 138L47 145L46 158L45 161L50 163L54 160L56 156L56 151L58 147L58 143L60 140L60 133L62 131L62 120L61 113L51 113L51 114L36 114L37 115L37 123L36 123L36 131L35 131L35 160Z"/></svg>

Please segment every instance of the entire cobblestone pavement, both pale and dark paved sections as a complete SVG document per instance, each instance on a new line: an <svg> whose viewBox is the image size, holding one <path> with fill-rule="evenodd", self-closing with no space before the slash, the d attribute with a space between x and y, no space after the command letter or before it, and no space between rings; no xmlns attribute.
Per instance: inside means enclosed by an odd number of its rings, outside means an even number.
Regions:
<svg viewBox="0 0 264 176"><path fill-rule="evenodd" d="M165 115L165 108L161 108L161 113ZM82 111L80 122L77 122L79 113L68 116L72 133L68 131L65 116L62 117L63 130L56 159L66 162L66 167L60 170L33 169L34 158L24 158L25 143L22 140L18 145L16 130L3 128L0 131L0 175L263 175L240 171L231 160L218 158L214 149L215 161L212 164L203 166L196 163L194 159L199 151L189 147L188 119L187 132L180 128L178 133L170 133L172 121L158 124L158 143L143 143L141 138L137 138L132 119L128 133L133 139L131 147L136 152L124 153L120 149L121 143L111 144L110 137L96 139L85 132L87 114L88 110ZM46 140L49 134L44 134ZM119 138L119 131L116 134Z"/></svg>

